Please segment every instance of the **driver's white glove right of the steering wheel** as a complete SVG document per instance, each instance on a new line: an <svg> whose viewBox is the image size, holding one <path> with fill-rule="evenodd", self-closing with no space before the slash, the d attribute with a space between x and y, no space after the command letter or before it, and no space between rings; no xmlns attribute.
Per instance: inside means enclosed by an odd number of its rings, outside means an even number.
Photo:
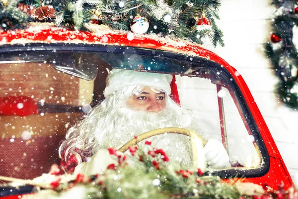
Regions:
<svg viewBox="0 0 298 199"><path fill-rule="evenodd" d="M208 140L203 148L207 165L213 169L230 167L229 157L224 145L216 139Z"/></svg>

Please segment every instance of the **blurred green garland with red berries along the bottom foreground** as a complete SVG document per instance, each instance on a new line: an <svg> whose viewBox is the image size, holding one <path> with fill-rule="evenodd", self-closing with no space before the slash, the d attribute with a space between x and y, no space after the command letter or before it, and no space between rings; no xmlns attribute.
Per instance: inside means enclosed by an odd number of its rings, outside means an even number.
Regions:
<svg viewBox="0 0 298 199"><path fill-rule="evenodd" d="M137 146L129 148L135 157L133 166L128 165L125 155L109 148L109 153L118 159L119 165L109 165L104 175L78 174L66 182L57 176L58 180L51 183L53 190L41 191L37 193L37 198L76 198L78 195L86 199L298 198L294 188L286 191L282 184L278 191L270 191L267 186L255 189L249 183L223 182L217 176L205 176L200 169L179 169L179 165L168 165L169 159L162 149L152 148L149 141L145 144L146 153L138 150ZM241 190L246 190L246 193ZM247 190L250 190L249 193Z"/></svg>

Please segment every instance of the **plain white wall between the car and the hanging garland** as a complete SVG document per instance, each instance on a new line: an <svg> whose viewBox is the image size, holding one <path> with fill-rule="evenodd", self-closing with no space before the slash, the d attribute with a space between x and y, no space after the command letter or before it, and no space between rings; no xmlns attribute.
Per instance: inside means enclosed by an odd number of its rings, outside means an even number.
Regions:
<svg viewBox="0 0 298 199"><path fill-rule="evenodd" d="M270 3L271 0L223 0L217 24L224 32L225 46L214 48L207 39L203 47L242 75L298 187L298 111L278 103L273 93L278 79L263 52L276 10ZM188 87L181 82L181 88Z"/></svg>

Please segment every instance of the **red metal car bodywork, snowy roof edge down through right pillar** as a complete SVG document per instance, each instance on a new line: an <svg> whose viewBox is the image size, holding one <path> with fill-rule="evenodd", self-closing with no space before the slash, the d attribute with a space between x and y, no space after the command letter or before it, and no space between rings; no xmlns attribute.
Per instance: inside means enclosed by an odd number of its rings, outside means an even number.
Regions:
<svg viewBox="0 0 298 199"><path fill-rule="evenodd" d="M133 39L131 39L131 36L133 36ZM274 190L279 189L279 185L282 182L284 183L285 189L294 186L279 150L245 81L232 66L215 53L191 42L178 39L177 41L173 41L154 35L138 35L116 30L98 30L95 32L70 31L47 24L44 29L28 28L25 30L9 30L7 32L0 31L0 45L26 43L77 43L141 47L177 52L190 57L198 56L223 65L234 78L235 83L242 92L270 157L270 169L267 174L261 177L241 179L241 181L252 182L259 185L268 184L268 186ZM12 198L13 197L7 197L7 199Z"/></svg>

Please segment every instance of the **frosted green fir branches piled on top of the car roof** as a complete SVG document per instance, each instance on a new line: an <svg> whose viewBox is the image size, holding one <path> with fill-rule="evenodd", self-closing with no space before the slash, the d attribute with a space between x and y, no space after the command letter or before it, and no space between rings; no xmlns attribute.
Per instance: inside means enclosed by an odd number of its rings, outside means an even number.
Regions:
<svg viewBox="0 0 298 199"><path fill-rule="evenodd" d="M3 3L0 4L4 8L1 13L7 16L13 15L11 7L16 10L19 2L35 8L52 5L56 12L55 17L52 17L55 18L55 24L73 30L88 30L86 24L92 19L112 29L130 30L132 18L142 15L149 20L147 33L175 35L191 39L198 44L203 44L204 38L209 37L214 46L218 44L224 46L223 32L216 24L216 19L220 19L217 13L221 5L220 0L9 0L9 2L9 7L6 8ZM164 16L170 16L170 21L165 20ZM19 17L22 19L24 14ZM196 20L200 17L208 18L211 21L211 28L197 30ZM12 23L14 18L6 17L5 20L11 20ZM0 18L0 22L3 21L4 18ZM15 24L15 27L10 28L25 26L26 22L26 18L23 18Z"/></svg>

